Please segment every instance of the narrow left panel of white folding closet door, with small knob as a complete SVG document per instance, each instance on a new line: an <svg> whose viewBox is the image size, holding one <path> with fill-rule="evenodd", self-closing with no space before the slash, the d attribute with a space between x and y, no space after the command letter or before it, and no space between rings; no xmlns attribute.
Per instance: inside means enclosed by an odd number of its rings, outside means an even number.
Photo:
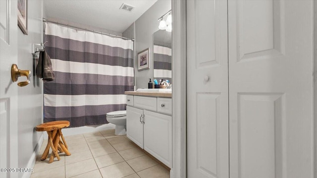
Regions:
<svg viewBox="0 0 317 178"><path fill-rule="evenodd" d="M226 0L187 0L187 176L228 178Z"/></svg>

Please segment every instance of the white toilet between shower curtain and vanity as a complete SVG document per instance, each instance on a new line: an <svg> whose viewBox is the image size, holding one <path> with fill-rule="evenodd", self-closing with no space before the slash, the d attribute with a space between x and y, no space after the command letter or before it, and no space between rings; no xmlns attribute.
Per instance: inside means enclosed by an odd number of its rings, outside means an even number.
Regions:
<svg viewBox="0 0 317 178"><path fill-rule="evenodd" d="M126 134L127 111L114 111L106 114L109 123L115 124L115 135Z"/></svg>

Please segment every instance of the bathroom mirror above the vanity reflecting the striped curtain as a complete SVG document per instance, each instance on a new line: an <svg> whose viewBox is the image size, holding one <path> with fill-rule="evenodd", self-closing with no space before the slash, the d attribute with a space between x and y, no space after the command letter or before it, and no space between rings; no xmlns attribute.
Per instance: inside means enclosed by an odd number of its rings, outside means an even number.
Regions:
<svg viewBox="0 0 317 178"><path fill-rule="evenodd" d="M159 30L153 34L154 79L172 83L172 33Z"/></svg>

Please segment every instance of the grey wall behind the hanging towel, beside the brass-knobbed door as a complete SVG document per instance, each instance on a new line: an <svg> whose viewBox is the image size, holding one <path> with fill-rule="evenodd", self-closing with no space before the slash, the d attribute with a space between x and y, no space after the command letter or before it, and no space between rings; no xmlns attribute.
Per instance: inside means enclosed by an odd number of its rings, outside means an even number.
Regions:
<svg viewBox="0 0 317 178"><path fill-rule="evenodd" d="M28 1L28 35L18 29L18 67L31 70L31 83L18 88L18 167L33 168L35 154L42 144L42 132L35 126L43 121L43 82L35 76L35 61L32 56L32 43L42 42L42 0ZM19 81L25 81L20 77ZM30 174L30 173L29 173ZM19 173L19 178L23 173ZM24 177L28 177L24 175Z"/></svg>

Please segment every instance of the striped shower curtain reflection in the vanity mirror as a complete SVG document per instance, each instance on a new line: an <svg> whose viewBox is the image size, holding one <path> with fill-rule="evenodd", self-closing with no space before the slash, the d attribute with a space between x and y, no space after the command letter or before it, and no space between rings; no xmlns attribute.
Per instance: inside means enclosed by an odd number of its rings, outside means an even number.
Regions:
<svg viewBox="0 0 317 178"><path fill-rule="evenodd" d="M169 80L172 83L172 49L154 45L154 79Z"/></svg>

